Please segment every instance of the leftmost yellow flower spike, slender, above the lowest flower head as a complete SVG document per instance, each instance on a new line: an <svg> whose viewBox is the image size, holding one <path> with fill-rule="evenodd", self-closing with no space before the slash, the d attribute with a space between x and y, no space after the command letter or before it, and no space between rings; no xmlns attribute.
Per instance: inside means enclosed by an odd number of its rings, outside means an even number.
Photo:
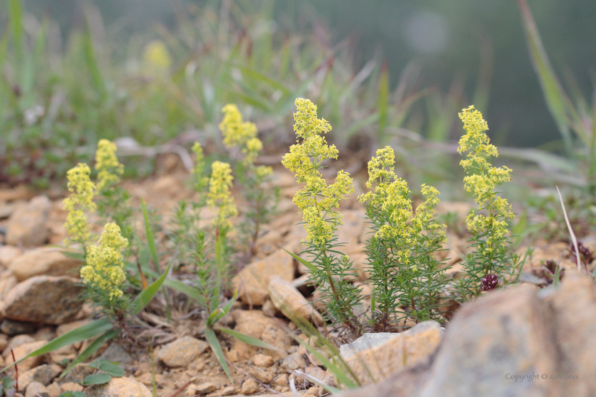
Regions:
<svg viewBox="0 0 596 397"><path fill-rule="evenodd" d="M70 242L79 242L83 246L89 241L89 225L87 211L95 211L93 202L95 184L89 179L91 169L87 164L79 163L66 173L67 188L71 195L64 199L64 209L68 211L65 228Z"/></svg>

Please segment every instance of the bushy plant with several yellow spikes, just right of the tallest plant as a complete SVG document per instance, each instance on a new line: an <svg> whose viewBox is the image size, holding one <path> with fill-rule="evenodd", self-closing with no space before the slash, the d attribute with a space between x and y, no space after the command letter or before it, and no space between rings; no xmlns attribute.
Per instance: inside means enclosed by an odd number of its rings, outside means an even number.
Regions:
<svg viewBox="0 0 596 397"><path fill-rule="evenodd" d="M373 233L365 252L374 286L374 329L404 317L416 323L440 320L439 294L446 280L434 255L446 240L445 225L434 219L438 191L422 185L425 200L413 211L407 182L394 173L394 158L391 147L377 150L368 162L366 186L373 190L358 197Z"/></svg>

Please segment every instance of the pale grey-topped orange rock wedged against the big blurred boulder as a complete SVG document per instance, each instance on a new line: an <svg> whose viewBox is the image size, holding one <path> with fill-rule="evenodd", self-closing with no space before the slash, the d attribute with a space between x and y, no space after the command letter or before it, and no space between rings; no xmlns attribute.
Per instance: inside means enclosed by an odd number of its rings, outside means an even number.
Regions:
<svg viewBox="0 0 596 397"><path fill-rule="evenodd" d="M441 342L441 325L424 321L400 333L365 334L340 347L340 355L362 384L387 379L428 357ZM371 379L370 374L375 376Z"/></svg>

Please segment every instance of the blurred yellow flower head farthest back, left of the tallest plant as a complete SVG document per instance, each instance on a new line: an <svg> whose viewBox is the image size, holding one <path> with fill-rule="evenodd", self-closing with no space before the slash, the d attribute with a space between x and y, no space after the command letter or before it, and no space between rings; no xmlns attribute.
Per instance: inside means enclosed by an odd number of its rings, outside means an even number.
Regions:
<svg viewBox="0 0 596 397"><path fill-rule="evenodd" d="M253 164L263 150L263 142L257 138L257 126L249 121L242 121L242 115L234 104L227 104L221 109L223 120L219 129L223 134L223 145L226 147L239 146L245 155L245 164Z"/></svg>

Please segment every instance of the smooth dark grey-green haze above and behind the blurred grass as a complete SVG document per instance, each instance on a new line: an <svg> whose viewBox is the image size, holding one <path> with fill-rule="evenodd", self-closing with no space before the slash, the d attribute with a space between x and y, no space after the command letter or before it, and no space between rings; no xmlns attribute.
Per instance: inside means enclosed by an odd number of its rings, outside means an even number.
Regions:
<svg viewBox="0 0 596 397"><path fill-rule="evenodd" d="M177 8L216 6L217 2L90 3L99 9L111 40L126 42L131 34L151 30L157 23L172 28L177 23ZM84 25L82 1L25 0L23 4L38 18L49 15L55 19L65 37L70 29ZM4 23L7 14L2 5ZM576 79L583 94L590 96L596 77L596 1L534 0L529 5L555 69ZM331 40L353 38L358 49L353 60L356 68L380 53L388 62L393 86L404 67L415 62L420 67L421 85L441 91L462 90L469 103L478 79L490 78L489 101L482 110L490 120L492 134L502 134L497 138L502 144L535 147L559 138L532 70L513 0L289 0L276 1L274 6L274 28L304 28L316 18L329 28ZM480 73L485 77L479 77Z"/></svg>

